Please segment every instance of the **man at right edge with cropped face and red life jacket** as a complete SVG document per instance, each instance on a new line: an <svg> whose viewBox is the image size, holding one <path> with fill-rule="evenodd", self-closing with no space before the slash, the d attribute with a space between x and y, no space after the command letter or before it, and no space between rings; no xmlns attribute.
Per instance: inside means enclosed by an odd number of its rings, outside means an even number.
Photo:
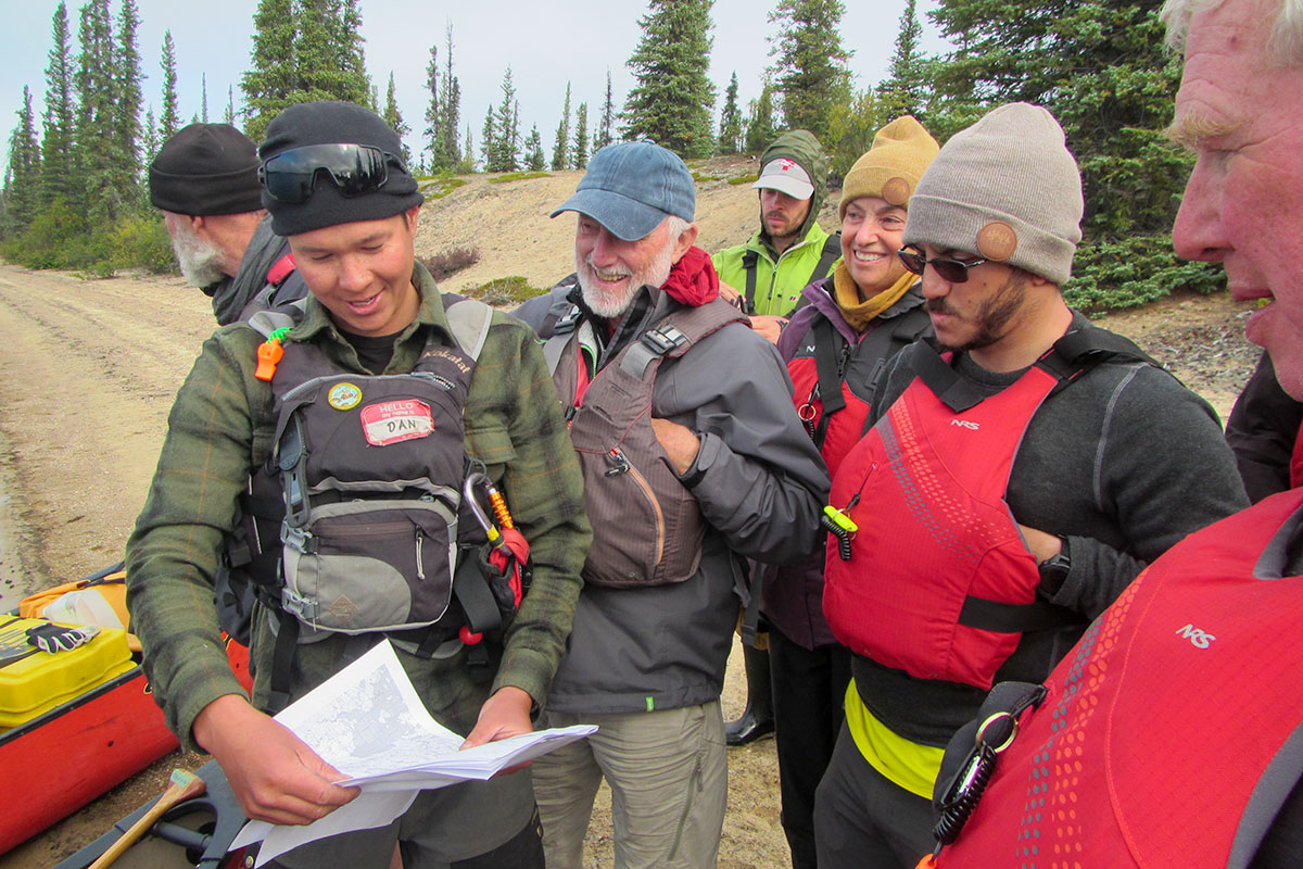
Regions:
<svg viewBox="0 0 1303 869"><path fill-rule="evenodd" d="M1303 3L1170 0L1162 18L1186 53L1170 133L1197 158L1177 253L1222 263L1234 298L1269 302L1246 334L1303 399ZM1299 865L1300 515L1295 489L1192 534L1109 607L1044 696L1018 710L994 702L1010 693L999 685L981 718L1012 714L1016 736L984 735L1010 743L994 778L977 761L990 784L933 864L1012 868L1035 847L1085 866ZM947 766L964 765L976 730L956 735ZM937 796L980 793L960 791L942 782Z"/></svg>

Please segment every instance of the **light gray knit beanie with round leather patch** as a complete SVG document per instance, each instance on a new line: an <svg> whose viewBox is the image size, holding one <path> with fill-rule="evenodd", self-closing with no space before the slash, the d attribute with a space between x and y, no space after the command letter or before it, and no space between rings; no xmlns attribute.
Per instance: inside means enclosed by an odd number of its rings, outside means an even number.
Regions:
<svg viewBox="0 0 1303 869"><path fill-rule="evenodd" d="M1063 128L1040 106L1010 103L941 149L909 199L903 244L963 250L1062 284L1083 207Z"/></svg>

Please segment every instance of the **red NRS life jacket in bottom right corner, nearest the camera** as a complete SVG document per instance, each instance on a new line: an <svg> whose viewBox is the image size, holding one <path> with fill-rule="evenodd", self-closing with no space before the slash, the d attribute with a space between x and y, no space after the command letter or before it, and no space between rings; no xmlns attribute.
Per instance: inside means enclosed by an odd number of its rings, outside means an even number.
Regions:
<svg viewBox="0 0 1303 869"><path fill-rule="evenodd" d="M938 866L1244 866L1303 770L1303 492L1190 535L1023 714Z"/></svg>

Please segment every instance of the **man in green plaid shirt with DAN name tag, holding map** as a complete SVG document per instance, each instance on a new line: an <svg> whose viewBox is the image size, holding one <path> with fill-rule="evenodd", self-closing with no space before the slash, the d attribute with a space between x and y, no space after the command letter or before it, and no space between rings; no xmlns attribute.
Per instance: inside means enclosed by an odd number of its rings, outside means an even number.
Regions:
<svg viewBox="0 0 1303 869"><path fill-rule="evenodd" d="M301 697L386 636L433 717L466 734L468 745L532 730L530 713L564 650L590 541L579 465L533 332L478 302L442 296L414 262L422 195L399 151L380 117L347 103L293 106L268 125L262 202L311 297L301 321L276 339L283 358L274 371L263 370L261 348L275 341L248 323L205 344L177 395L128 543L133 625L168 726L188 748L211 752L246 814L274 823L309 823L357 791L335 784L344 776L263 710ZM478 323L469 334L459 326L463 309ZM318 390L321 400L302 414L287 410L289 392L309 382L335 386ZM395 420L399 434L377 425ZM309 519L319 515L319 525L296 538L296 513L284 519L283 534L262 538L284 539L285 552L281 559L281 545L267 545L283 569L261 578L250 702L218 636L212 576L224 541L245 521L250 483L271 477L292 490L279 464L267 461L274 448L278 456L293 448L275 435L285 421L304 431L294 443L306 465L328 461L340 473L305 476L308 487L297 490L310 498L294 503ZM357 447L313 452L314 443L339 443L314 440L314 431L340 433ZM450 492L461 491L466 457L506 494L532 546L533 585L500 653L480 671L491 683L477 680L478 645L461 631L470 610L451 589L453 534L456 543L477 542L466 522L451 520L457 498ZM383 511L377 528L401 525L390 538L394 552L332 526L323 507L364 519ZM330 546L337 550L302 542L331 541L335 529ZM330 572L321 565L332 551L347 563L327 594ZM315 577L301 572L311 558L319 559ZM305 597L304 582L313 581ZM395 843L408 869L542 866L529 774L422 791L391 825L310 843L281 855L279 865L380 869Z"/></svg>

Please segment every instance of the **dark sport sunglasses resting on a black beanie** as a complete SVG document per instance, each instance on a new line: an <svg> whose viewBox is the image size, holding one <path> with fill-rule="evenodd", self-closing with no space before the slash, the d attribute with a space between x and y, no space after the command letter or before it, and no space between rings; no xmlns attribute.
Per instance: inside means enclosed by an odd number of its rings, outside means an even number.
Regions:
<svg viewBox="0 0 1303 869"><path fill-rule="evenodd" d="M305 145L263 160L258 182L278 202L302 203L313 195L317 173L326 172L341 195L360 197L384 186L390 160L407 171L399 158L370 145Z"/></svg>

